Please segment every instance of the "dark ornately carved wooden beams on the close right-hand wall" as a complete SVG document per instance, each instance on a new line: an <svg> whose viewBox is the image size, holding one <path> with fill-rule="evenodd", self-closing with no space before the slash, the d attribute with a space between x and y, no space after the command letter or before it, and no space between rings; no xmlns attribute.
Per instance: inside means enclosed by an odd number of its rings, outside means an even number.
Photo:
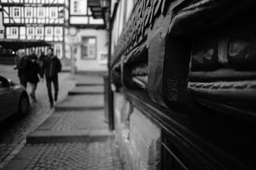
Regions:
<svg viewBox="0 0 256 170"><path fill-rule="evenodd" d="M211 101L213 94L225 96L223 89L198 89L194 83L208 87L213 81L230 81L236 87L241 81L255 80L256 27L250 19L241 27L234 24L246 12L252 13L253 4L251 0L139 0L115 46L111 66L120 63L124 87L146 89L150 99L164 108L194 108L195 98L197 102ZM248 95L239 90L244 98Z"/></svg>

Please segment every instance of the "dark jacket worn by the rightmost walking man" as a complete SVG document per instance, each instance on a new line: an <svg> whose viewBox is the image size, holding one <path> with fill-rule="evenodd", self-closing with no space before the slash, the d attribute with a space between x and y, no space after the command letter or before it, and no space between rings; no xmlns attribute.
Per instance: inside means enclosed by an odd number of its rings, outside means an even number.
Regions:
<svg viewBox="0 0 256 170"><path fill-rule="evenodd" d="M61 71L61 62L56 56L47 56L43 62L41 77L54 78Z"/></svg>

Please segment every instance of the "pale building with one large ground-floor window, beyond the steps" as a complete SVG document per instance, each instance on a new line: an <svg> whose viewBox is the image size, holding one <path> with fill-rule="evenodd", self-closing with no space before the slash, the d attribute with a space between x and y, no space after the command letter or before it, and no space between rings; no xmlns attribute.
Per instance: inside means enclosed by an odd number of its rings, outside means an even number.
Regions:
<svg viewBox="0 0 256 170"><path fill-rule="evenodd" d="M108 32L99 0L70 0L69 36L76 71L106 72Z"/></svg>

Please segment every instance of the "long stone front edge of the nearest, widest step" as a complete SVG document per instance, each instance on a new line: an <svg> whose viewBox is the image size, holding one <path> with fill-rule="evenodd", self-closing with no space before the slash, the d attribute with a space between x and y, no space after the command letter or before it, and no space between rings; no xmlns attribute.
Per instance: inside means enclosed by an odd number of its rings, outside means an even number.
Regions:
<svg viewBox="0 0 256 170"><path fill-rule="evenodd" d="M35 131L26 137L26 143L93 142L113 139L114 132L108 130Z"/></svg>

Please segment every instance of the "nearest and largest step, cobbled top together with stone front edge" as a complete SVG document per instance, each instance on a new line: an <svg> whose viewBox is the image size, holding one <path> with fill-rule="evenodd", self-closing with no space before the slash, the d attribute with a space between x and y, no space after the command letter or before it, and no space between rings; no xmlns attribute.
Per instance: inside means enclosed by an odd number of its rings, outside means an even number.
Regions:
<svg viewBox="0 0 256 170"><path fill-rule="evenodd" d="M27 136L26 142L91 142L112 140L114 137L104 122L103 111L56 111Z"/></svg>

